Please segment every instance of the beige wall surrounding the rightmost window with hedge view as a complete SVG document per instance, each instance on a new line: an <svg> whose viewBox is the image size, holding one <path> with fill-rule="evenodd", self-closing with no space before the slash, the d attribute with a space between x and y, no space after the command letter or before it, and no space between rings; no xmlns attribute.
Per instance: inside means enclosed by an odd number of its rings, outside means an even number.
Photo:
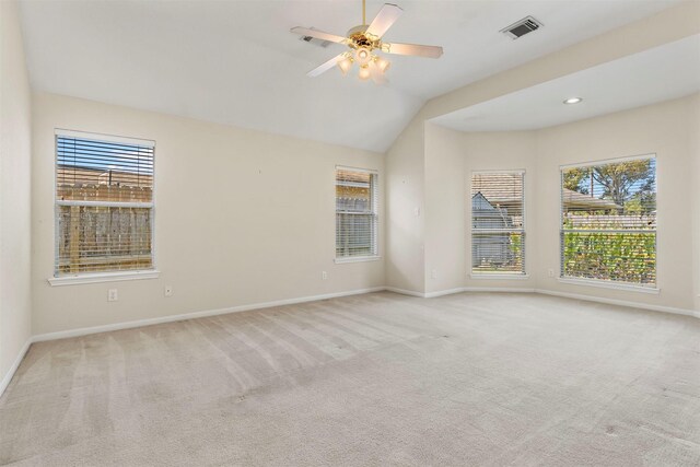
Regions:
<svg viewBox="0 0 700 467"><path fill-rule="evenodd" d="M691 167L698 157L691 136L700 120L698 95L650 105L537 132L537 271L540 289L692 310ZM564 284L547 277L559 265L559 166L612 157L656 154L658 295Z"/></svg>

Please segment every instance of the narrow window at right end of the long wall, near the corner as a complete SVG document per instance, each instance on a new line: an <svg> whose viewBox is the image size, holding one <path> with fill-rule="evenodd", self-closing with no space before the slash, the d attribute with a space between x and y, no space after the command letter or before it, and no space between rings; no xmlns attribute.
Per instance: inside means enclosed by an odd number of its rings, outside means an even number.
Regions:
<svg viewBox="0 0 700 467"><path fill-rule="evenodd" d="M359 168L336 168L336 258L376 257L377 174Z"/></svg>

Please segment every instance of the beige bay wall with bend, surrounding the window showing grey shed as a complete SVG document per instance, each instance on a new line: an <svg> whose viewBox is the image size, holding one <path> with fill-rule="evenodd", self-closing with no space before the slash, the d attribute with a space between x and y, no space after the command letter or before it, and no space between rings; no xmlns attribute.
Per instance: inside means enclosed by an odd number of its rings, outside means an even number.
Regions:
<svg viewBox="0 0 700 467"><path fill-rule="evenodd" d="M425 124L427 293L468 289L536 288L536 135L533 131L465 133ZM471 173L525 171L525 269L527 277L472 279ZM436 277L433 277L433 271Z"/></svg>

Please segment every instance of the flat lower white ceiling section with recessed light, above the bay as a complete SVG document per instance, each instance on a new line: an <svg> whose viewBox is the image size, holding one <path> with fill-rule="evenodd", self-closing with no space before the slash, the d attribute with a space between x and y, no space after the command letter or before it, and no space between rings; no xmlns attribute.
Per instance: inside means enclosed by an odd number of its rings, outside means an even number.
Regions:
<svg viewBox="0 0 700 467"><path fill-rule="evenodd" d="M434 118L460 131L551 127L700 91L700 35ZM564 105L569 97L582 97Z"/></svg>

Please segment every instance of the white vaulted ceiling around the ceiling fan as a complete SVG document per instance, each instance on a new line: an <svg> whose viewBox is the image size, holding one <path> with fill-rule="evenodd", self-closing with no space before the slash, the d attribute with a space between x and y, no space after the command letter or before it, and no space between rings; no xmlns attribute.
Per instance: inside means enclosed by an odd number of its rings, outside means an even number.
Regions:
<svg viewBox="0 0 700 467"><path fill-rule="evenodd" d="M385 151L430 97L656 13L678 0L416 1L386 34L442 45L439 60L392 56L390 83L305 72L342 50L290 27L335 34L360 0L23 0L35 89L202 120ZM371 19L384 1L369 0ZM532 14L545 26L499 30Z"/></svg>

